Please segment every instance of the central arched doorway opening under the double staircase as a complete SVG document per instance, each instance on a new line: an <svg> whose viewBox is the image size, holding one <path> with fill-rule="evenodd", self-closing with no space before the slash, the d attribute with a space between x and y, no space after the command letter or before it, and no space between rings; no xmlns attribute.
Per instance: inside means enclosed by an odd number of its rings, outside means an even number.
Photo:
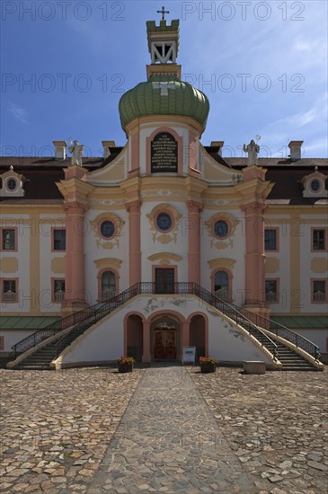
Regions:
<svg viewBox="0 0 328 494"><path fill-rule="evenodd" d="M180 354L180 323L165 315L152 323L151 354L154 360L176 360Z"/></svg>

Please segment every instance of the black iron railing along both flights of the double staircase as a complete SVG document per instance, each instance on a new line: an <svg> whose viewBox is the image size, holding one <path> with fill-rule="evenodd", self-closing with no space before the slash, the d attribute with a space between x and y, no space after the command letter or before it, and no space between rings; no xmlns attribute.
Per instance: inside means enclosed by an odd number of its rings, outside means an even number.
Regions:
<svg viewBox="0 0 328 494"><path fill-rule="evenodd" d="M304 349L307 353L319 359L319 348L303 336L295 331L288 330L278 322L270 321L258 314L247 311L235 304L230 304L219 298L215 294L209 292L196 283L181 282L169 283L167 285L159 285L158 283L139 282L121 292L118 296L113 296L105 302L94 304L81 311L70 314L58 322L54 322L44 328L36 331L30 336L16 343L12 347L10 360L14 360L26 350L35 347L42 340L48 339L50 336L57 334L59 331L64 331L71 328L62 338L57 341L57 355L66 348L66 346L77 336L90 328L95 322L98 322L105 315L111 313L116 308L128 302L131 298L137 295L195 295L207 304L215 307L221 313L226 314L234 322L242 326L246 331L250 332L263 347L267 348L275 359L278 356L277 344L262 331L268 330L284 338L285 340L294 343L297 348Z"/></svg>

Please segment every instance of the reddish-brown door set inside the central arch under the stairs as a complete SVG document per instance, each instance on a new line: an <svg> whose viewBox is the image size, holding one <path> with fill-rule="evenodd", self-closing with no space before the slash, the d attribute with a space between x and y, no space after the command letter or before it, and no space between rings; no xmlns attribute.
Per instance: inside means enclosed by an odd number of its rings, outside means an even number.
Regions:
<svg viewBox="0 0 328 494"><path fill-rule="evenodd" d="M160 322L154 329L155 360L175 360L177 354L177 331L173 324Z"/></svg>

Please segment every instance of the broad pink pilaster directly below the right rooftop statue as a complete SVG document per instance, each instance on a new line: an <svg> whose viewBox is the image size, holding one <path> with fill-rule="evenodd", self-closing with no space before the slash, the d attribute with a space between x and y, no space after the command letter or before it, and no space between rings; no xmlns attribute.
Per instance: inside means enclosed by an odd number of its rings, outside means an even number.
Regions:
<svg viewBox="0 0 328 494"><path fill-rule="evenodd" d="M263 205L254 202L244 207L245 255L245 306L265 304L264 271L264 216Z"/></svg>

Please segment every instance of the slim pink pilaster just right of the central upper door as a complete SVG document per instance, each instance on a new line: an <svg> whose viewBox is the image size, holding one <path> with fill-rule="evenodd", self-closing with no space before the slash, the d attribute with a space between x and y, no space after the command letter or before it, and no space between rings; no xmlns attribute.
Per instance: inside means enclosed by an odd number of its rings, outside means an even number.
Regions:
<svg viewBox="0 0 328 494"><path fill-rule="evenodd" d="M188 201L188 281L200 284L200 217L202 205Z"/></svg>

